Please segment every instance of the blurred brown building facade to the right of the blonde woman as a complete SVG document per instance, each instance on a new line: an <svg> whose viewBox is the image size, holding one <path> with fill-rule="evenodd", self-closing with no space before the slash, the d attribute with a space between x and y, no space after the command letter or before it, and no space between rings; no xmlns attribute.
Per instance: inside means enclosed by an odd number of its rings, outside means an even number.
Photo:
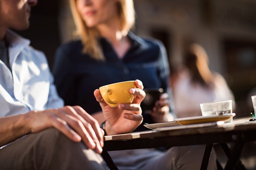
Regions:
<svg viewBox="0 0 256 170"><path fill-rule="evenodd" d="M201 44L210 69L221 73L235 94L237 116L249 115L256 87L255 0L135 0L136 32L163 41L171 68L182 62L184 41ZM256 94L255 94L256 95Z"/></svg>

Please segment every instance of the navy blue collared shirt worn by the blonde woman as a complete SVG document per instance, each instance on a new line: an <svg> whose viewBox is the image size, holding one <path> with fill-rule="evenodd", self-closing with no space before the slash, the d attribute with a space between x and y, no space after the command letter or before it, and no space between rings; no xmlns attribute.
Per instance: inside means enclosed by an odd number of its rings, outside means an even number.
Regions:
<svg viewBox="0 0 256 170"><path fill-rule="evenodd" d="M101 110L93 94L95 89L136 79L143 82L144 89L163 88L167 92L169 65L163 44L154 39L142 39L132 32L128 36L132 46L122 59L103 38L99 39L99 44L106 61L96 61L83 54L80 40L57 49L52 72L58 94L66 105L80 105L93 114ZM145 123L154 123L149 115L143 117Z"/></svg>

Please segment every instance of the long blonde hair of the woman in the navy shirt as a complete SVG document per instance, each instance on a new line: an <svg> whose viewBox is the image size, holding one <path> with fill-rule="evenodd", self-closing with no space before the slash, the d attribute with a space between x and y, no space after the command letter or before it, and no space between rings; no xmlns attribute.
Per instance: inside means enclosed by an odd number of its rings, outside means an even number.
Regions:
<svg viewBox="0 0 256 170"><path fill-rule="evenodd" d="M89 54L95 60L104 61L102 49L97 38L99 32L96 28L88 28L78 13L76 0L70 0L73 19L76 25L76 36L80 37L84 46L83 53ZM117 2L117 12L120 18L121 32L126 33L131 30L135 23L135 12L133 0L119 0Z"/></svg>

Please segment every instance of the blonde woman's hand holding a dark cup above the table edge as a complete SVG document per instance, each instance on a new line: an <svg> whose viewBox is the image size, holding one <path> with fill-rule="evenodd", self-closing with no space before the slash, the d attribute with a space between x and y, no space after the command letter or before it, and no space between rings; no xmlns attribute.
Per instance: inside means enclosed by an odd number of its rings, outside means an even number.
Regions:
<svg viewBox="0 0 256 170"><path fill-rule="evenodd" d="M161 123L173 120L173 116L169 112L169 95L163 93L160 99L156 101L153 111L150 111L149 114L155 123Z"/></svg>

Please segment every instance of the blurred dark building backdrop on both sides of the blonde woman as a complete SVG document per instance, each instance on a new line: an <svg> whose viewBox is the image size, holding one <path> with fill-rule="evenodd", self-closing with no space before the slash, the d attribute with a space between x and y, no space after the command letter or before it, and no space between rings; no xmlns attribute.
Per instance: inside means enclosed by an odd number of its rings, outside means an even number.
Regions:
<svg viewBox="0 0 256 170"><path fill-rule="evenodd" d="M238 116L249 115L256 87L255 0L134 0L136 32L160 39L172 69L182 62L182 45L194 40L207 51L210 69L221 73L235 94ZM32 8L31 27L19 32L53 64L55 49L73 39L68 0L44 0Z"/></svg>

